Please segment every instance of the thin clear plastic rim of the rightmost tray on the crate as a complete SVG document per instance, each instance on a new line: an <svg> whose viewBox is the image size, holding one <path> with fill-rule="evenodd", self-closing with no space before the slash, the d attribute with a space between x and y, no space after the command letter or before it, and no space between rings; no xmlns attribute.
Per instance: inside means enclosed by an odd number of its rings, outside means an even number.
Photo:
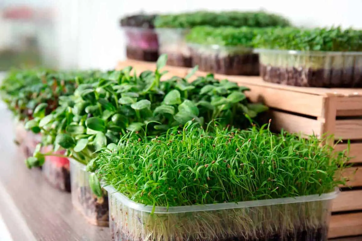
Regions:
<svg viewBox="0 0 362 241"><path fill-rule="evenodd" d="M308 50L273 50L265 48L255 48L255 53L279 53L288 55L315 55L315 56L362 56L362 51L308 51Z"/></svg>

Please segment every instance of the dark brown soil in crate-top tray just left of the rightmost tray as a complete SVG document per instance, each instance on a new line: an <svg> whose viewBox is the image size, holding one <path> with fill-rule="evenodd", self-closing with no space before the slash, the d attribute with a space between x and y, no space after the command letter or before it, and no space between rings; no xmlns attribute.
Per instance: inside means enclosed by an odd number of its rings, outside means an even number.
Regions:
<svg viewBox="0 0 362 241"><path fill-rule="evenodd" d="M192 51L191 56L193 65L198 65L201 71L227 75L259 75L259 55L255 53L220 56Z"/></svg>

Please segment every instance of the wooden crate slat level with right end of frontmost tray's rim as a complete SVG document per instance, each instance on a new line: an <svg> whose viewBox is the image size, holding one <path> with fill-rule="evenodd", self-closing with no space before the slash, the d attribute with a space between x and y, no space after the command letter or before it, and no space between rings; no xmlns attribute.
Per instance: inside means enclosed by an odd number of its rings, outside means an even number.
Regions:
<svg viewBox="0 0 362 241"><path fill-rule="evenodd" d="M342 191L333 200L332 212L362 210L362 190Z"/></svg>

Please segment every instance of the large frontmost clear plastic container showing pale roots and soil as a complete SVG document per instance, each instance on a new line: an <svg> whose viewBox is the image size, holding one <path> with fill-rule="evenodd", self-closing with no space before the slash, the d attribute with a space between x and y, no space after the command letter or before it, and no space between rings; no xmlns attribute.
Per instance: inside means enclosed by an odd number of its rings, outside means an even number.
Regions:
<svg viewBox="0 0 362 241"><path fill-rule="evenodd" d="M332 199L322 195L179 207L145 206L112 186L113 240L327 240ZM153 214L151 214L153 211Z"/></svg>

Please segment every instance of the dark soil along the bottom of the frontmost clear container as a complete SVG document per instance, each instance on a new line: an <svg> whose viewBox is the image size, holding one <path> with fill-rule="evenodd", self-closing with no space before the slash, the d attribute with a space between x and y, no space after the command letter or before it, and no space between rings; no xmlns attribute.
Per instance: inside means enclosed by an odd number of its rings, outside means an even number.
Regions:
<svg viewBox="0 0 362 241"><path fill-rule="evenodd" d="M115 222L114 217L111 217L111 237L113 241L119 240L132 240L139 241L142 240L139 237L133 237L131 233L124 233L121 230L118 230L117 223ZM140 221L140 220L139 220ZM215 238L211 241L326 241L328 237L328 227L320 227L309 230L296 230L295 232L290 232L286 234L270 234L268 236L258 235L257 238L245 238L244 236L231 236L228 238ZM150 239L151 240L151 239ZM194 237L174 237L173 240L185 240L185 241L199 241ZM209 239L207 239L209 240Z"/></svg>

